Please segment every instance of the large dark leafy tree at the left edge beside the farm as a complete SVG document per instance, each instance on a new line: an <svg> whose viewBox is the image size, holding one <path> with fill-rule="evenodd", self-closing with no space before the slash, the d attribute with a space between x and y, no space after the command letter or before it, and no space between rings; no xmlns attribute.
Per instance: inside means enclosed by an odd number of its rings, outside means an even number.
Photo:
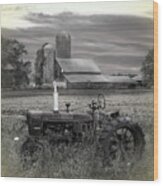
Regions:
<svg viewBox="0 0 163 186"><path fill-rule="evenodd" d="M8 64L10 64L14 69L13 78L11 80L13 82L13 86L19 87L24 83L28 84L29 70L27 70L26 67L29 66L29 61L23 61L24 55L27 54L24 44L15 39L2 37L1 52L2 70L4 70ZM5 76L5 73L3 73L3 76ZM5 78L2 77L2 80L5 80Z"/></svg>

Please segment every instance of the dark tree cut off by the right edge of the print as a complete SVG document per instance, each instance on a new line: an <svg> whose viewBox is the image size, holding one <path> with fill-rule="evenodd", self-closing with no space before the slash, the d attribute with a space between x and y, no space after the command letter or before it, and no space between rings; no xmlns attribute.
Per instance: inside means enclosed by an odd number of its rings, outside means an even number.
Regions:
<svg viewBox="0 0 163 186"><path fill-rule="evenodd" d="M143 75L143 83L147 87L154 84L154 49L148 51L145 60L143 61L141 72Z"/></svg>

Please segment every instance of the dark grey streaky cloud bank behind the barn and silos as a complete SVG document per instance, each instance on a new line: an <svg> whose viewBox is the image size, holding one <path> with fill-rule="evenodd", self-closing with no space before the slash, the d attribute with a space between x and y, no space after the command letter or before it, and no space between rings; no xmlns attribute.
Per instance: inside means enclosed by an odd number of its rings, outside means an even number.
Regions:
<svg viewBox="0 0 163 186"><path fill-rule="evenodd" d="M26 29L2 29L6 37L26 44L28 57L44 43L55 45L61 30L71 33L74 57L93 58L104 73L139 72L144 56L153 47L153 20L125 15L57 15L30 13L26 20L37 24Z"/></svg>

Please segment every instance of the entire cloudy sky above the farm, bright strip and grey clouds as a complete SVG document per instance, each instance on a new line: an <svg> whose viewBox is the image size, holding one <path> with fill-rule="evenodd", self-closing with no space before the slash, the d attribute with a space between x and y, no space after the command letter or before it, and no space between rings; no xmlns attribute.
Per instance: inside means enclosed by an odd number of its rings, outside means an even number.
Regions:
<svg viewBox="0 0 163 186"><path fill-rule="evenodd" d="M23 42L34 62L55 35L72 37L72 56L91 58L104 74L140 73L153 48L153 1L3 5L2 35Z"/></svg>

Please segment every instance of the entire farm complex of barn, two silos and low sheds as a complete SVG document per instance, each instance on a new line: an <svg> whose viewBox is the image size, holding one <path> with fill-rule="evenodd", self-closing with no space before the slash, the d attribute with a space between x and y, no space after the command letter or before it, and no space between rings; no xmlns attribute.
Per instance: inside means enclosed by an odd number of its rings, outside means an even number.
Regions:
<svg viewBox="0 0 163 186"><path fill-rule="evenodd" d="M71 57L71 36L56 35L54 47L45 43L37 51L36 75L43 85L56 80L66 88L134 88L136 81L128 76L105 76L92 59Z"/></svg>

